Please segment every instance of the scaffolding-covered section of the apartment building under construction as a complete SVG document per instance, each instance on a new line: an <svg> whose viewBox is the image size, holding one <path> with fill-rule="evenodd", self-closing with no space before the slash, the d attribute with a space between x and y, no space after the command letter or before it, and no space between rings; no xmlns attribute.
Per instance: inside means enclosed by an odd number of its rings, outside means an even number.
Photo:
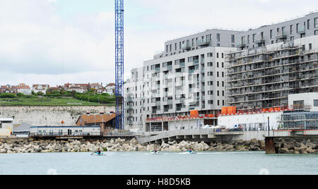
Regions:
<svg viewBox="0 0 318 189"><path fill-rule="evenodd" d="M318 92L318 35L230 52L228 104L238 111L288 106L288 94Z"/></svg>

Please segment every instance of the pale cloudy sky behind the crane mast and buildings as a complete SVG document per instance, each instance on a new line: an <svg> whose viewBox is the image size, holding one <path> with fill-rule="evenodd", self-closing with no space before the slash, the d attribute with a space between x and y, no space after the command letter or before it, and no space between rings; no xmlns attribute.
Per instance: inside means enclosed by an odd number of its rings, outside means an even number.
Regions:
<svg viewBox="0 0 318 189"><path fill-rule="evenodd" d="M248 30L318 9L317 0L125 0L125 79L164 43ZM0 0L0 85L114 83L114 0Z"/></svg>

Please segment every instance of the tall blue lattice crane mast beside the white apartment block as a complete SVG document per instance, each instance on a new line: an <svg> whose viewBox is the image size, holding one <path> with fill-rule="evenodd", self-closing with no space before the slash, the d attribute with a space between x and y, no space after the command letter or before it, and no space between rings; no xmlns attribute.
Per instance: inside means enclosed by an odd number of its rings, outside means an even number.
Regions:
<svg viewBox="0 0 318 189"><path fill-rule="evenodd" d="M115 0L115 59L115 125L124 130L124 0Z"/></svg>

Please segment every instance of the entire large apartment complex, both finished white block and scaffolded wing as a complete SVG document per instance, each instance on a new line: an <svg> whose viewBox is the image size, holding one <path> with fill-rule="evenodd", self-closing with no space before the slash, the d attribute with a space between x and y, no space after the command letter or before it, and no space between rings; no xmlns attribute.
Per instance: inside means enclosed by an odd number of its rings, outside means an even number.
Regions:
<svg viewBox="0 0 318 189"><path fill-rule="evenodd" d="M288 94L317 92L317 50L318 13L165 42L165 51L131 71L124 86L125 127L161 132L218 126L224 106L236 106L238 113L288 109Z"/></svg>

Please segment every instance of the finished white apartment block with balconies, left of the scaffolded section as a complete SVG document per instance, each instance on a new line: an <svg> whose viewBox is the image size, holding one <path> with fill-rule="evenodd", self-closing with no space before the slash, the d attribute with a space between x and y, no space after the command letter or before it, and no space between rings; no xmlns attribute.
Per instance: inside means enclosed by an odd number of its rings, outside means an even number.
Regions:
<svg viewBox="0 0 318 189"><path fill-rule="evenodd" d="M160 132L180 127L176 123L169 126L167 121L150 120L189 116L192 110L202 115L220 114L220 109L227 105L225 54L236 50L235 33L208 30L166 42L168 49L162 54L132 70L131 79L124 85L125 128ZM213 41L218 43L213 46ZM175 49L170 49L170 43ZM232 47L225 47L229 45ZM201 122L200 125L216 125L217 118Z"/></svg>

